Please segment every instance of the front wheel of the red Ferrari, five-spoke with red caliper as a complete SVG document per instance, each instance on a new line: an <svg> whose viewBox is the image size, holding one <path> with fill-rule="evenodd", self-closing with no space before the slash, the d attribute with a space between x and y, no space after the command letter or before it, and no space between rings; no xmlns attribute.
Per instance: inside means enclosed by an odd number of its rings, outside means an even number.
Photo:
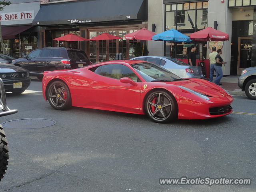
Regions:
<svg viewBox="0 0 256 192"><path fill-rule="evenodd" d="M154 91L148 95L144 104L146 114L157 123L167 123L178 117L178 105L172 94Z"/></svg>

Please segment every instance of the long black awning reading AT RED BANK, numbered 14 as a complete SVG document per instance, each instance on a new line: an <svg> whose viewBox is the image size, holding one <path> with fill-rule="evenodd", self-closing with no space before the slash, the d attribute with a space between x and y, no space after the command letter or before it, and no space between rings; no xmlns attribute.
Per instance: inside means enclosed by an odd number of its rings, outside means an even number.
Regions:
<svg viewBox="0 0 256 192"><path fill-rule="evenodd" d="M90 0L41 5L33 25L145 20L146 0Z"/></svg>

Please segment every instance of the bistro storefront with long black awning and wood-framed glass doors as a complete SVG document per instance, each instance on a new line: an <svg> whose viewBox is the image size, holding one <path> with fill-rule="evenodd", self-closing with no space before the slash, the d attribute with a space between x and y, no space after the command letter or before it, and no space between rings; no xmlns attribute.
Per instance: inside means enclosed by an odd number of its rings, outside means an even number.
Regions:
<svg viewBox="0 0 256 192"><path fill-rule="evenodd" d="M62 10L58 15L54 10ZM97 14L95 14L97 13ZM80 48L92 62L122 59L134 56L137 40L126 40L124 36L147 27L147 0L92 0L41 5L33 25L42 26L40 41L43 46ZM87 42L58 42L54 38L73 33L92 38L108 32L122 37L118 40Z"/></svg>

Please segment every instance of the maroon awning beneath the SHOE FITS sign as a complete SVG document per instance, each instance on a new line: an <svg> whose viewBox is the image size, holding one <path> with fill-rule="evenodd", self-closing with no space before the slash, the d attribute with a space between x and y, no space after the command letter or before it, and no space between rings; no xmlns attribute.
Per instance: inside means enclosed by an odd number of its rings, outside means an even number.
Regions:
<svg viewBox="0 0 256 192"><path fill-rule="evenodd" d="M32 25L2 27L3 39L15 39L15 35L18 35L21 32L26 31L32 27L33 27Z"/></svg>

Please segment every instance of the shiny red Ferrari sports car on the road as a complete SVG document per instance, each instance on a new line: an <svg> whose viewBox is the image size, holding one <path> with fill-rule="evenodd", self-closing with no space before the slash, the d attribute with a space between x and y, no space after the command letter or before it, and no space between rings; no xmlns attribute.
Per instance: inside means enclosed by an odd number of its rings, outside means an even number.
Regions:
<svg viewBox="0 0 256 192"><path fill-rule="evenodd" d="M73 70L46 71L44 99L71 106L147 114L153 121L207 119L232 113L232 96L206 80L182 79L141 60L118 60Z"/></svg>

